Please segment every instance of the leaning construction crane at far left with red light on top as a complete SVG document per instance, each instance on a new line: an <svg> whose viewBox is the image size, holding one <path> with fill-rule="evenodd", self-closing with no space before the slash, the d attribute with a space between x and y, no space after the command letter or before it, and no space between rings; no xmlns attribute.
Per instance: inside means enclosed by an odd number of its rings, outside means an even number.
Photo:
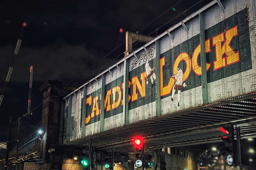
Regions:
<svg viewBox="0 0 256 170"><path fill-rule="evenodd" d="M19 53L19 50L20 50L20 47L21 47L21 42L22 42L21 37L22 37L22 33L23 33L23 30L26 27L26 25L27 25L27 23L23 23L22 27L21 27L21 32L20 32L16 47L14 49L13 57L12 57L12 64L11 64L11 67L9 68L8 73L7 73L7 76L6 76L6 79L5 79L5 82L4 82L4 86L3 86L3 89L2 89L2 92L1 92L1 95L0 95L0 106L1 106L1 103L3 101L4 90L7 86L7 84L9 83L9 80L10 80L11 75L12 75L12 69L13 69L12 65L13 65L13 62L14 62L14 57L18 56L18 53Z"/></svg>

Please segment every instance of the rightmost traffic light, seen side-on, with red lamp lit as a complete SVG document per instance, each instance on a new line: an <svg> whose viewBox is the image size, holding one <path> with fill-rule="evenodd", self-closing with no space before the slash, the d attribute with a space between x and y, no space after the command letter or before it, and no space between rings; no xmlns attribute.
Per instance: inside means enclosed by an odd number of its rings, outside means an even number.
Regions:
<svg viewBox="0 0 256 170"><path fill-rule="evenodd" d="M222 147L225 156L232 156L232 163L235 164L235 140L234 140L234 130L232 125L227 125L220 127L219 130L225 133L225 136L222 136L221 139L225 142L225 147ZM229 164L230 165L230 164Z"/></svg>

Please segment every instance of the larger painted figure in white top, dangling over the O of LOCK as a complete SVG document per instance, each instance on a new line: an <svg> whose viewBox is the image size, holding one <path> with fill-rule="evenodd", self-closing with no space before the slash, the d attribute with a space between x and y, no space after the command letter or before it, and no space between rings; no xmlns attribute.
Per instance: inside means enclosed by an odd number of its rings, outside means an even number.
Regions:
<svg viewBox="0 0 256 170"><path fill-rule="evenodd" d="M180 67L177 67L177 74L172 75L174 79L176 79L176 83L172 88L171 93L171 101L173 102L174 93L176 90L178 90L178 106L180 106L180 100L181 100L181 91L183 87L187 87L186 83L183 83L183 71Z"/></svg>

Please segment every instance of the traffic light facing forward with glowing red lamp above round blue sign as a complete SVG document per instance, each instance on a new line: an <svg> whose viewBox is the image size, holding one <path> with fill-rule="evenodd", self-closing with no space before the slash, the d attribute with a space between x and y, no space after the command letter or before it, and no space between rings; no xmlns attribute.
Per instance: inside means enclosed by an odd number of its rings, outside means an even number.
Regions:
<svg viewBox="0 0 256 170"><path fill-rule="evenodd" d="M137 167L142 166L143 162L143 150L144 150L144 140L141 137L136 137L134 139L134 147L135 147L135 165Z"/></svg>

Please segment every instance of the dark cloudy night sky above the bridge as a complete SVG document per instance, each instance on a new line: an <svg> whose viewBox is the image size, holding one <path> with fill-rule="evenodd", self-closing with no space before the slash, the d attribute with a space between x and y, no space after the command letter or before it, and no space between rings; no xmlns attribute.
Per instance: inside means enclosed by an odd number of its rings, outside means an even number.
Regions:
<svg viewBox="0 0 256 170"><path fill-rule="evenodd" d="M4 98L0 106L0 142L6 141L10 116L15 126L17 118L27 112L30 66L34 67L31 99L34 110L41 104L38 88L45 81L59 80L62 85L79 87L121 60L125 31L157 36L209 2L1 0L0 91L4 90ZM27 26L22 45L18 56L14 56L24 22ZM11 66L10 82L3 89ZM31 125L40 122L41 112L40 106L32 112Z"/></svg>

